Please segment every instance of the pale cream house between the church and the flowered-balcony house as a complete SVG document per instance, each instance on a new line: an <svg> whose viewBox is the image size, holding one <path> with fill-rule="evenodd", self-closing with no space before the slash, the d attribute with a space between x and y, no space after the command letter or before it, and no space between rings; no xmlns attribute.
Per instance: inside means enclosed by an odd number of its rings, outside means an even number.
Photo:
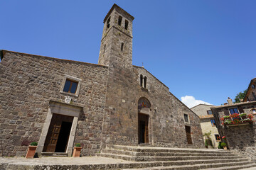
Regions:
<svg viewBox="0 0 256 170"><path fill-rule="evenodd" d="M203 134L211 132L210 140L212 140L213 142L213 147L217 148L218 142L220 142L220 135L218 134L218 129L215 125L213 113L210 111L211 107L213 107L213 105L198 104L197 106L193 106L193 108L191 108L191 111L199 116ZM204 140L206 142L205 138Z"/></svg>

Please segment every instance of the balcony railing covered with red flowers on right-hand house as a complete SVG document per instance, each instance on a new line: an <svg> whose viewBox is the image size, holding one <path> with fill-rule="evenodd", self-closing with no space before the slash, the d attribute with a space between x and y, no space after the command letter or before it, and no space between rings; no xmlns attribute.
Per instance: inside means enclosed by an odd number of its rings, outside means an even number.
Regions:
<svg viewBox="0 0 256 170"><path fill-rule="evenodd" d="M221 120L223 125L247 125L253 123L253 115L247 115L246 113L234 113L232 115L225 115Z"/></svg>

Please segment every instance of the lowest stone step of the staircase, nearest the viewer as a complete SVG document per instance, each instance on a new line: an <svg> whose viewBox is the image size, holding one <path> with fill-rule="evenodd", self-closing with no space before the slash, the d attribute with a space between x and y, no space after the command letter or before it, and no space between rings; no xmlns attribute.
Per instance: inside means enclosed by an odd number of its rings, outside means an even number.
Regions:
<svg viewBox="0 0 256 170"><path fill-rule="evenodd" d="M217 163L217 164L194 164L194 165L181 165L181 166L155 166L139 169L123 169L123 170L230 170L230 169L245 169L250 167L256 167L256 164L252 162L235 162L235 163Z"/></svg>

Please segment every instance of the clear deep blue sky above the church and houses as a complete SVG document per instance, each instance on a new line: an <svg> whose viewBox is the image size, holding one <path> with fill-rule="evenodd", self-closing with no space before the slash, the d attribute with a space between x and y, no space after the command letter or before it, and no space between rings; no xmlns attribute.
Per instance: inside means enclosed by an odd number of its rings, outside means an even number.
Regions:
<svg viewBox="0 0 256 170"><path fill-rule="evenodd" d="M256 77L256 1L249 0L0 0L0 49L97 63L114 3L135 18L133 64L143 62L184 102L220 105Z"/></svg>

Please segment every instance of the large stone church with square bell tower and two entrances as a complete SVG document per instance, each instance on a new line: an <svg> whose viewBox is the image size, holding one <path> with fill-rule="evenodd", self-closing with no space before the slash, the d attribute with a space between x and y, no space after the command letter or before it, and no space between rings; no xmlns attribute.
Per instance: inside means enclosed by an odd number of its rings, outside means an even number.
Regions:
<svg viewBox="0 0 256 170"><path fill-rule="evenodd" d="M198 116L144 67L132 65L134 17L114 4L98 64L1 50L0 149L82 155L106 145L203 148Z"/></svg>

